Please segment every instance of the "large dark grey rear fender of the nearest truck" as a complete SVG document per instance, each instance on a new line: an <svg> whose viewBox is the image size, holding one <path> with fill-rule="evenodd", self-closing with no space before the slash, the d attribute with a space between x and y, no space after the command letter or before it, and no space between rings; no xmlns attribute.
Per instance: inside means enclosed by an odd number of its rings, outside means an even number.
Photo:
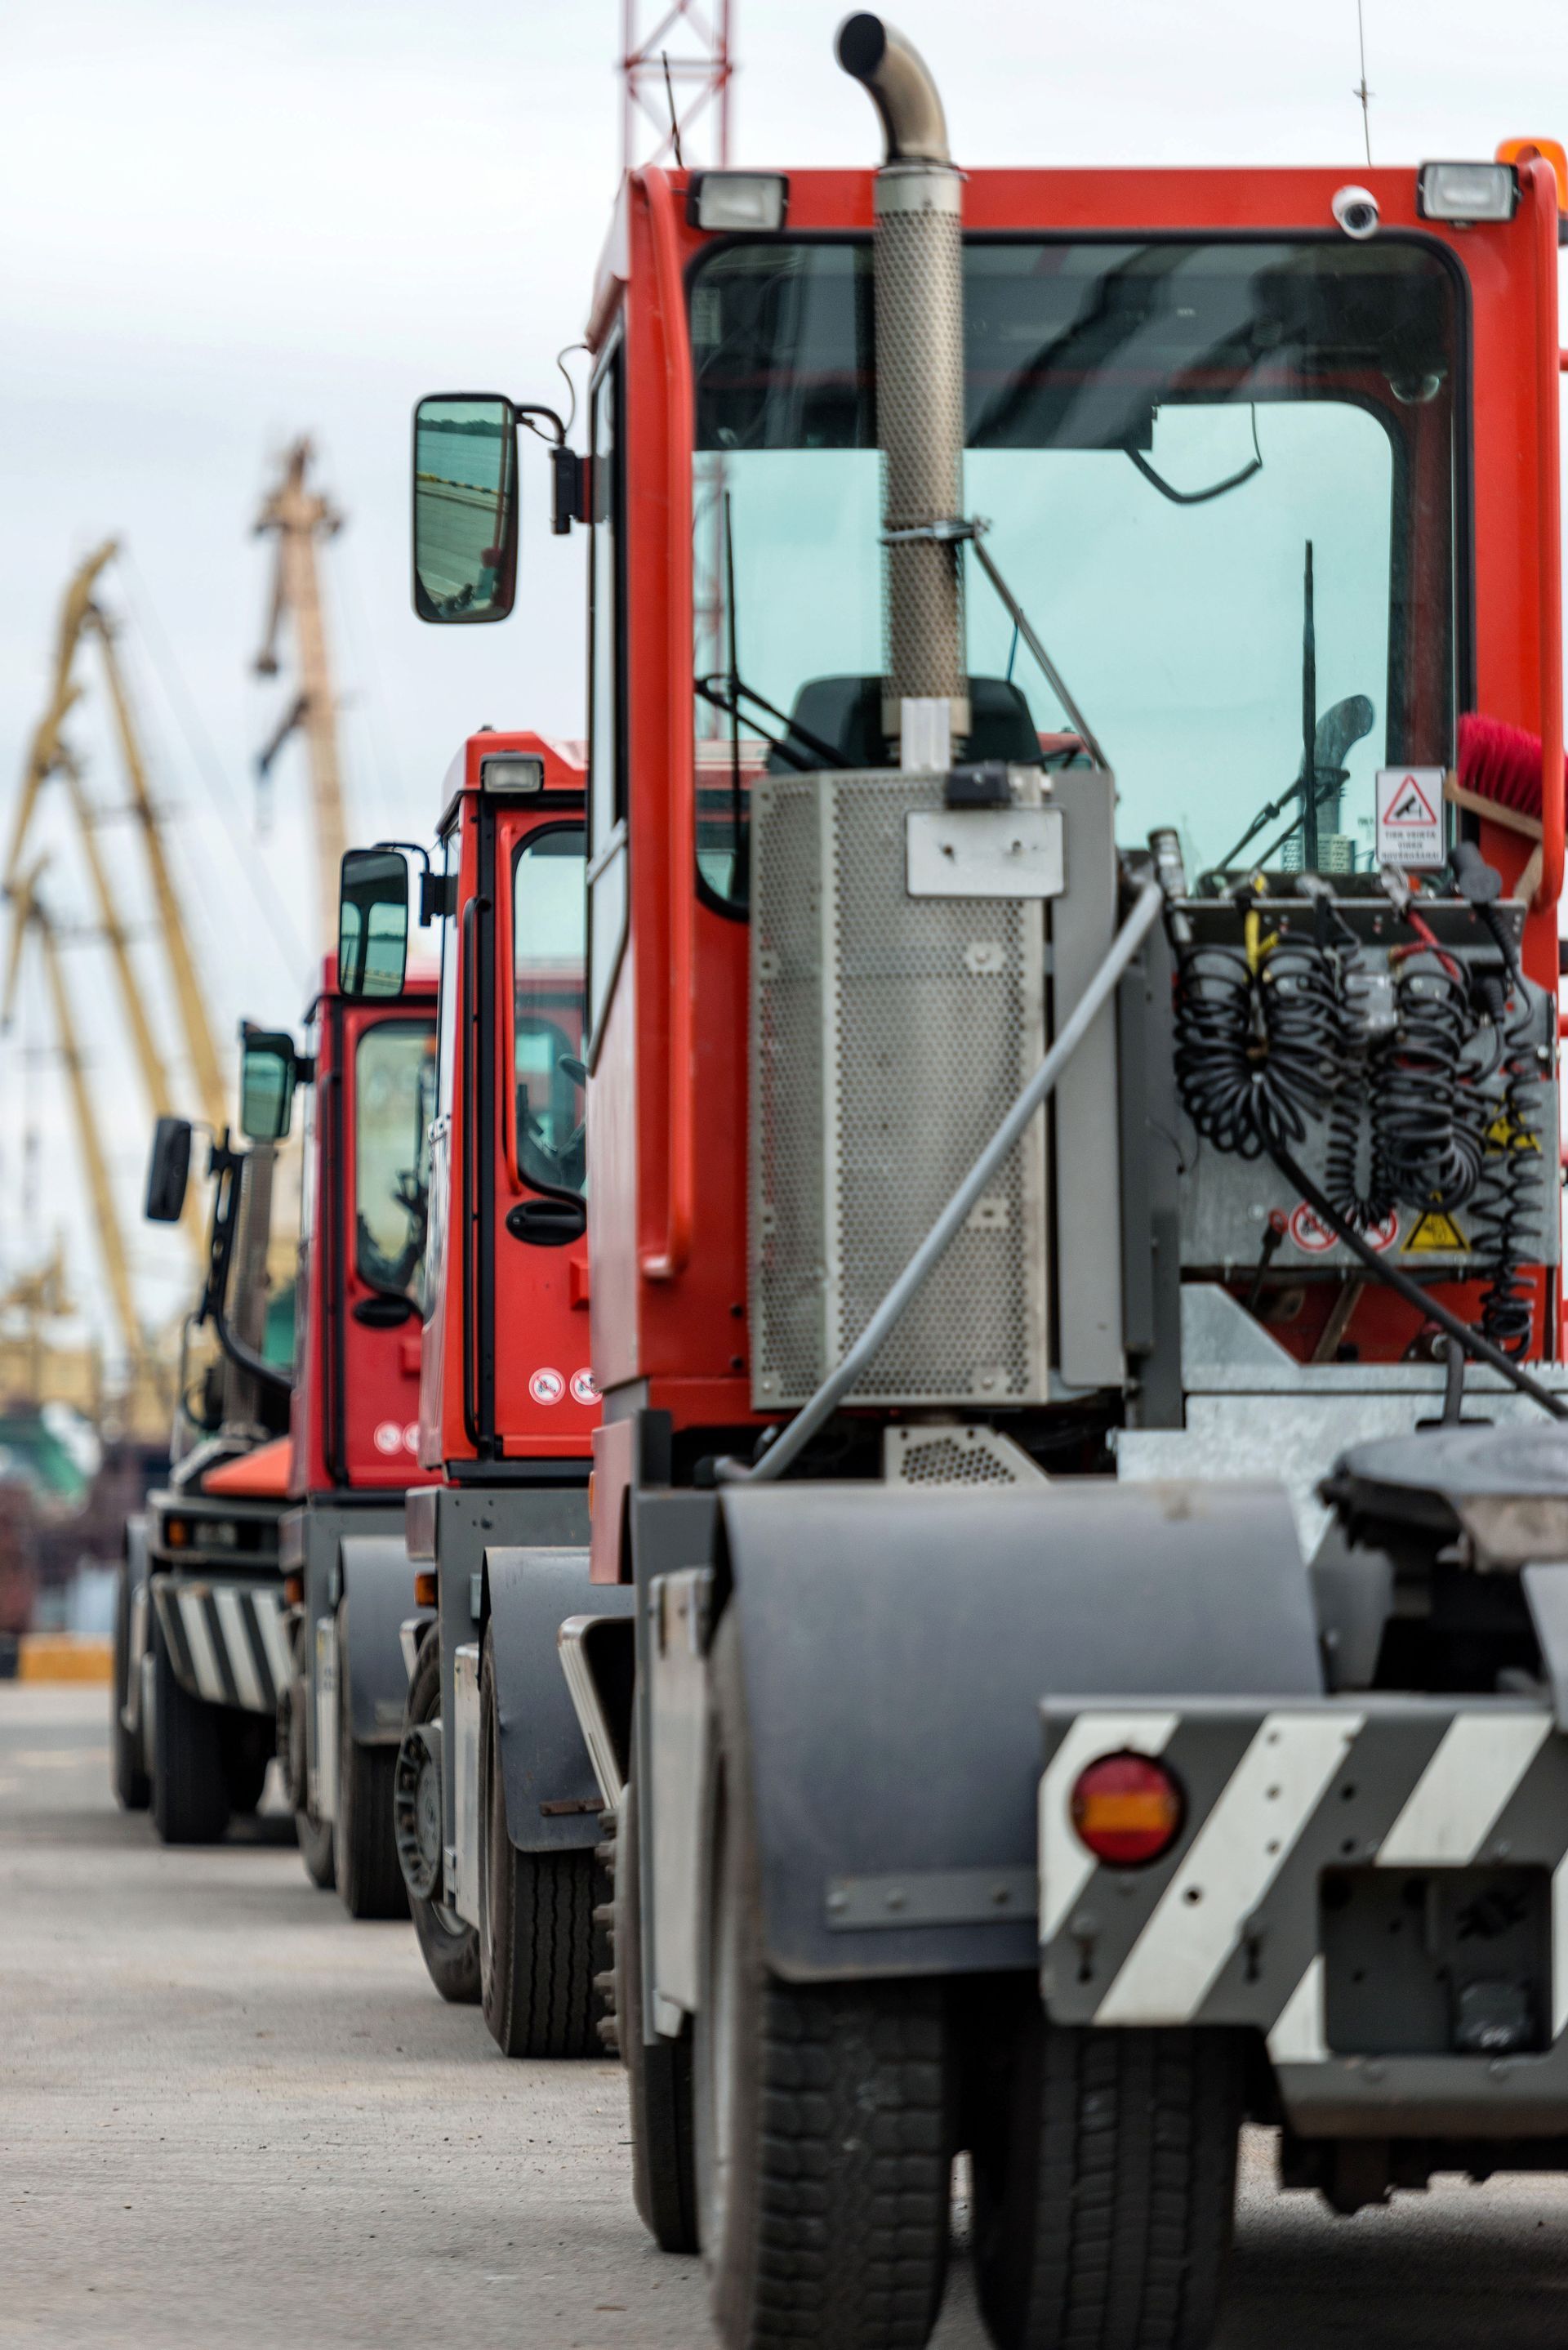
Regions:
<svg viewBox="0 0 1568 2350"><path fill-rule="evenodd" d="M1034 1967L1046 1692L1324 1687L1274 1485L729 1488L722 1528L766 1958L795 1981Z"/></svg>

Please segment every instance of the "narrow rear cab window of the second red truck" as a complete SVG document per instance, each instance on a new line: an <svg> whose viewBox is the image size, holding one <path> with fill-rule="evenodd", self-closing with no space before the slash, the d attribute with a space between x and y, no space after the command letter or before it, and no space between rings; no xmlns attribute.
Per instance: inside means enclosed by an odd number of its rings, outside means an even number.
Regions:
<svg viewBox="0 0 1568 2350"><path fill-rule="evenodd" d="M531 832L512 865L512 1036L517 1173L581 1194L583 1135L583 827Z"/></svg>

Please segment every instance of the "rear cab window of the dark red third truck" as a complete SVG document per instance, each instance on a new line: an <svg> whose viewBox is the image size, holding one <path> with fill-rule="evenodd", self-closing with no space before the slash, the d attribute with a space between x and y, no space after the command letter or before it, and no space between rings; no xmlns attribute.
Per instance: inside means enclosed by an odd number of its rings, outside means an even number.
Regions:
<svg viewBox="0 0 1568 2350"><path fill-rule="evenodd" d="M355 1050L355 1267L416 1297L425 1253L425 1126L435 1093L430 1020L383 1020Z"/></svg>

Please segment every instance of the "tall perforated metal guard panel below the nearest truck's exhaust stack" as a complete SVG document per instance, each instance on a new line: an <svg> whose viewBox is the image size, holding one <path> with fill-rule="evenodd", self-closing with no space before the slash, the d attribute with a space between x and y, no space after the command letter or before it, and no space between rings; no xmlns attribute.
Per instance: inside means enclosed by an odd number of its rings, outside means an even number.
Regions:
<svg viewBox="0 0 1568 2350"><path fill-rule="evenodd" d="M940 778L886 771L766 778L752 792L764 1410L802 1403L842 1358L1044 1053L1039 900L905 891L905 815L940 799ZM1044 1116L853 1396L1046 1396Z"/></svg>

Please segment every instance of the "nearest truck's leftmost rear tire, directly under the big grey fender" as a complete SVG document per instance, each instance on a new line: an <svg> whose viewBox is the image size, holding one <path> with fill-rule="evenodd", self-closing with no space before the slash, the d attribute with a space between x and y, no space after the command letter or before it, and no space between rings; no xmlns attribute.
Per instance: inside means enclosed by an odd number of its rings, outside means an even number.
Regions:
<svg viewBox="0 0 1568 2350"><path fill-rule="evenodd" d="M712 2324L726 2350L922 2350L947 2275L943 1986L769 1974L733 1614L710 1687L693 2106Z"/></svg>

